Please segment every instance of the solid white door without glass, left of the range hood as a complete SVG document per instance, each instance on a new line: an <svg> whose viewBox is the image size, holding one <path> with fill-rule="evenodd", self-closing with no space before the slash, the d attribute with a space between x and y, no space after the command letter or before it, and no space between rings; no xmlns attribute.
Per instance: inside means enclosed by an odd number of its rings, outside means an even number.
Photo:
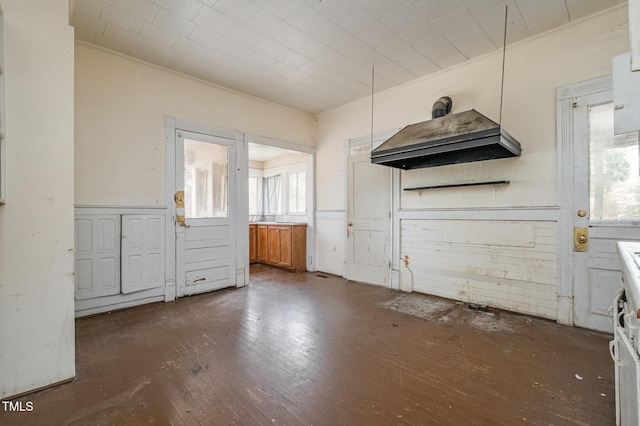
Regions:
<svg viewBox="0 0 640 426"><path fill-rule="evenodd" d="M347 157L347 278L389 285L389 168L371 164L370 154Z"/></svg>

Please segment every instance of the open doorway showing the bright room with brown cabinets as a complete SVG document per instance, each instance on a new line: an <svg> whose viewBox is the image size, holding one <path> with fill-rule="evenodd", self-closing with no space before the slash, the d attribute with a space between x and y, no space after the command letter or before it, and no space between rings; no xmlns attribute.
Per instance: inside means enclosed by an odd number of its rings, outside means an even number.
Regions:
<svg viewBox="0 0 640 426"><path fill-rule="evenodd" d="M250 273L315 270L313 153L257 142L247 150Z"/></svg>

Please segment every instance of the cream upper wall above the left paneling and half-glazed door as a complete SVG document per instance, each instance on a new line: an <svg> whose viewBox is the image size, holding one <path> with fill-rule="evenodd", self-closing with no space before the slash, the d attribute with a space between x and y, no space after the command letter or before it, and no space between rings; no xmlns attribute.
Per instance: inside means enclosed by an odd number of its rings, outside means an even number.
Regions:
<svg viewBox="0 0 640 426"><path fill-rule="evenodd" d="M314 146L312 116L76 44L76 205L165 205L164 116Z"/></svg>

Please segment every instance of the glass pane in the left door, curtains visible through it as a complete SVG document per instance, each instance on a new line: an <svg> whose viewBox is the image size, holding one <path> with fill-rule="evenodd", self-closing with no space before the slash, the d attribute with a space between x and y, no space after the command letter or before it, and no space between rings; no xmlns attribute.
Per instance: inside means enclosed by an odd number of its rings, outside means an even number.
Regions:
<svg viewBox="0 0 640 426"><path fill-rule="evenodd" d="M184 141L185 216L227 217L228 154L225 145Z"/></svg>

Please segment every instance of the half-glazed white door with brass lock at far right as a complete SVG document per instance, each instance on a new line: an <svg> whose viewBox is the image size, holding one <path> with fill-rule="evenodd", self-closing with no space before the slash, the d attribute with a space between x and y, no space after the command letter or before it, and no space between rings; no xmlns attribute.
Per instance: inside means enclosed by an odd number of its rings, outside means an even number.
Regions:
<svg viewBox="0 0 640 426"><path fill-rule="evenodd" d="M610 91L574 106L574 323L611 332L607 310L621 280L615 243L640 241L638 135L614 135Z"/></svg>

